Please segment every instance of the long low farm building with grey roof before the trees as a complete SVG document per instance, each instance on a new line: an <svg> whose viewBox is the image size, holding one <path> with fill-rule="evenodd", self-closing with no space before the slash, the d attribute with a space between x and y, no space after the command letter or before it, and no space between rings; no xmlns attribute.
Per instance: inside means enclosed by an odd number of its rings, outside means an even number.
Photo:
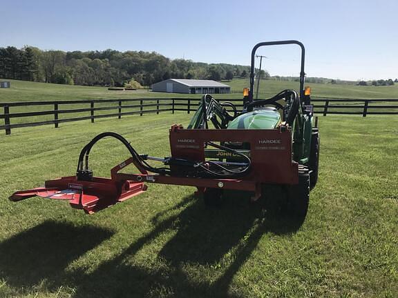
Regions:
<svg viewBox="0 0 398 298"><path fill-rule="evenodd" d="M154 83L152 85L153 92L169 92L169 93L229 93L231 87L218 81L211 80L195 80L195 79L167 79Z"/></svg>

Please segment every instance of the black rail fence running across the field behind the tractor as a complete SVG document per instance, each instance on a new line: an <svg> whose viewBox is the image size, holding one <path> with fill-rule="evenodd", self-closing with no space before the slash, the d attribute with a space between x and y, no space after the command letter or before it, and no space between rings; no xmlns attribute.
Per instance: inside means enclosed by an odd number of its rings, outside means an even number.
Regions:
<svg viewBox="0 0 398 298"><path fill-rule="evenodd" d="M242 99L221 99L220 101L229 101L234 103L238 109L243 108ZM0 130L6 130L6 135L10 135L12 128L49 124L53 124L55 128L58 128L59 123L82 120L91 120L91 123L94 123L95 119L99 118L117 117L121 119L122 116L126 115L142 116L149 113L159 114L160 112L174 113L183 111L189 114L196 110L199 103L200 98L97 99L0 103L0 108L3 109L0 119L4 119L4 124L0 126ZM366 117L366 115L398 115L398 99L313 98L312 103L314 103L314 113L323 116L332 114L362 115L363 117ZM108 106L104 106L104 104L108 104ZM34 107L40 107L44 110L30 111ZM81 116L82 113L86 115ZM79 114L79 117L60 117L61 115L73 114L75 116ZM21 119L29 119L29 117L34 120L12 123L12 119L21 121ZM51 119L40 119L41 121L37 121L40 117L51 117Z"/></svg>

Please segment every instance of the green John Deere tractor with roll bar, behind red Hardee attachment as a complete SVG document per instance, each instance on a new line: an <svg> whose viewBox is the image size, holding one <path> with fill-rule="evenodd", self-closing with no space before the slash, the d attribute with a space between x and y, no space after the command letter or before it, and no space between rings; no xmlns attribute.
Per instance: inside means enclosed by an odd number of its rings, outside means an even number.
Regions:
<svg viewBox="0 0 398 298"><path fill-rule="evenodd" d="M254 58L256 50L263 46L296 44L301 47L301 72L299 94L294 90L283 90L269 99L254 99ZM261 198L265 208L272 212L287 211L290 215L305 218L310 197L310 190L316 185L319 168L319 128L314 118L313 106L310 99L310 88L304 88L305 48L299 41L271 41L262 42L252 50L250 71L250 88L245 88L243 110L237 112L232 103L218 103L210 95L205 95L200 107L193 116L188 128L208 128L207 121L211 121L215 128L227 130L276 130L287 128L292 134L292 161L299 165L299 183L285 184L263 183ZM257 88L258 90L258 88ZM256 96L257 97L257 96ZM206 108L205 108L206 107ZM229 115L227 108L232 108L234 115ZM250 132L247 132L249 134ZM278 146L278 139L270 139L269 150L283 150ZM250 143L224 142L223 146L238 150L249 156ZM206 150L207 157L220 156L220 150ZM225 156L225 154L224 154ZM263 156L267 159L267 154ZM239 155L229 154L227 161L243 161ZM269 169L263 168L264 171ZM286 174L290 169L283 169ZM222 195L218 189L205 192L205 202L218 205L222 202Z"/></svg>

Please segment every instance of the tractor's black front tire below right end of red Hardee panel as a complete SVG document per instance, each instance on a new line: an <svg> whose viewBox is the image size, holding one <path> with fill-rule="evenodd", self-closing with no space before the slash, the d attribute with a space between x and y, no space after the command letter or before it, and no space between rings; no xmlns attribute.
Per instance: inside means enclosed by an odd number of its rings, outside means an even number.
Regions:
<svg viewBox="0 0 398 298"><path fill-rule="evenodd" d="M290 186L287 197L286 213L301 226L310 202L310 174L307 168L299 168L299 184Z"/></svg>

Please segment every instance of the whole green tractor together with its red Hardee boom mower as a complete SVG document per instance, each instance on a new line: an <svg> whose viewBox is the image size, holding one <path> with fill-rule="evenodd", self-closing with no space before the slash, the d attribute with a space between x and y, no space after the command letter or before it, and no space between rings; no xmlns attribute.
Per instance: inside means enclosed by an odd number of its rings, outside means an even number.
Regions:
<svg viewBox="0 0 398 298"><path fill-rule="evenodd" d="M254 57L261 46L296 44L301 47L300 94L284 90L272 98L254 100ZM21 190L10 199L39 196L64 199L87 213L102 210L139 195L147 183L196 186L205 203L217 204L224 190L243 190L260 197L268 206L284 209L305 219L310 188L316 184L319 161L319 132L312 126L310 95L304 90L304 46L299 41L258 43L252 50L250 89L245 90L244 108L219 103L204 95L187 129L169 130L171 157L140 155L122 136L104 132L92 139L79 155L75 176L46 181L44 188ZM231 115L227 112L233 110ZM209 129L209 123L214 128ZM120 140L131 157L111 170L111 178L93 177L88 166L91 148L99 139ZM155 168L147 161L159 161ZM137 174L119 171L133 163Z"/></svg>

